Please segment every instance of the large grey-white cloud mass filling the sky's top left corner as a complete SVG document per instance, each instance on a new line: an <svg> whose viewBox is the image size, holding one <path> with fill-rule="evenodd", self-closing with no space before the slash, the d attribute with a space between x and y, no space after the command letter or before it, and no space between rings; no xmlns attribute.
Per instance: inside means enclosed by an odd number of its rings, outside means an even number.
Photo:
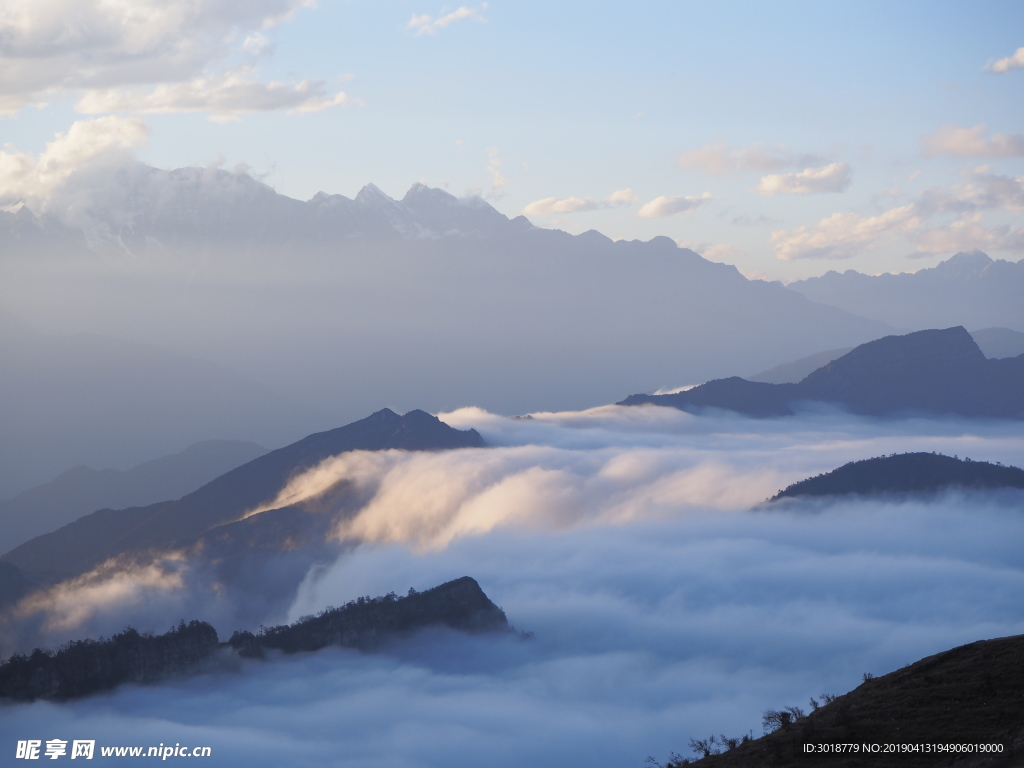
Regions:
<svg viewBox="0 0 1024 768"><path fill-rule="evenodd" d="M13 0L0 16L0 114L53 95L81 94L100 112L241 115L345 103L323 83L261 83L252 62L263 34L311 0ZM246 66L225 61L241 58Z"/></svg>

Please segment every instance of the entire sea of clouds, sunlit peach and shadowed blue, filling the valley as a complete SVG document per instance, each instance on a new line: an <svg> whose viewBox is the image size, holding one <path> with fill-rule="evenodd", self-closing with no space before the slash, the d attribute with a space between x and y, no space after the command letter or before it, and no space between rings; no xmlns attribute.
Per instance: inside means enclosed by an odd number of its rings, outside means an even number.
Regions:
<svg viewBox="0 0 1024 768"><path fill-rule="evenodd" d="M441 418L492 447L346 455L282 489L295 501L348 479L372 501L339 521L345 552L273 618L472 575L532 639L431 632L375 655L328 649L9 706L0 750L95 738L211 745L222 765L640 768L691 736L760 735L765 709L808 709L864 673L1024 633L1024 495L760 504L884 454L1020 466L1018 424L653 407ZM93 615L138 626L181 588Z"/></svg>

